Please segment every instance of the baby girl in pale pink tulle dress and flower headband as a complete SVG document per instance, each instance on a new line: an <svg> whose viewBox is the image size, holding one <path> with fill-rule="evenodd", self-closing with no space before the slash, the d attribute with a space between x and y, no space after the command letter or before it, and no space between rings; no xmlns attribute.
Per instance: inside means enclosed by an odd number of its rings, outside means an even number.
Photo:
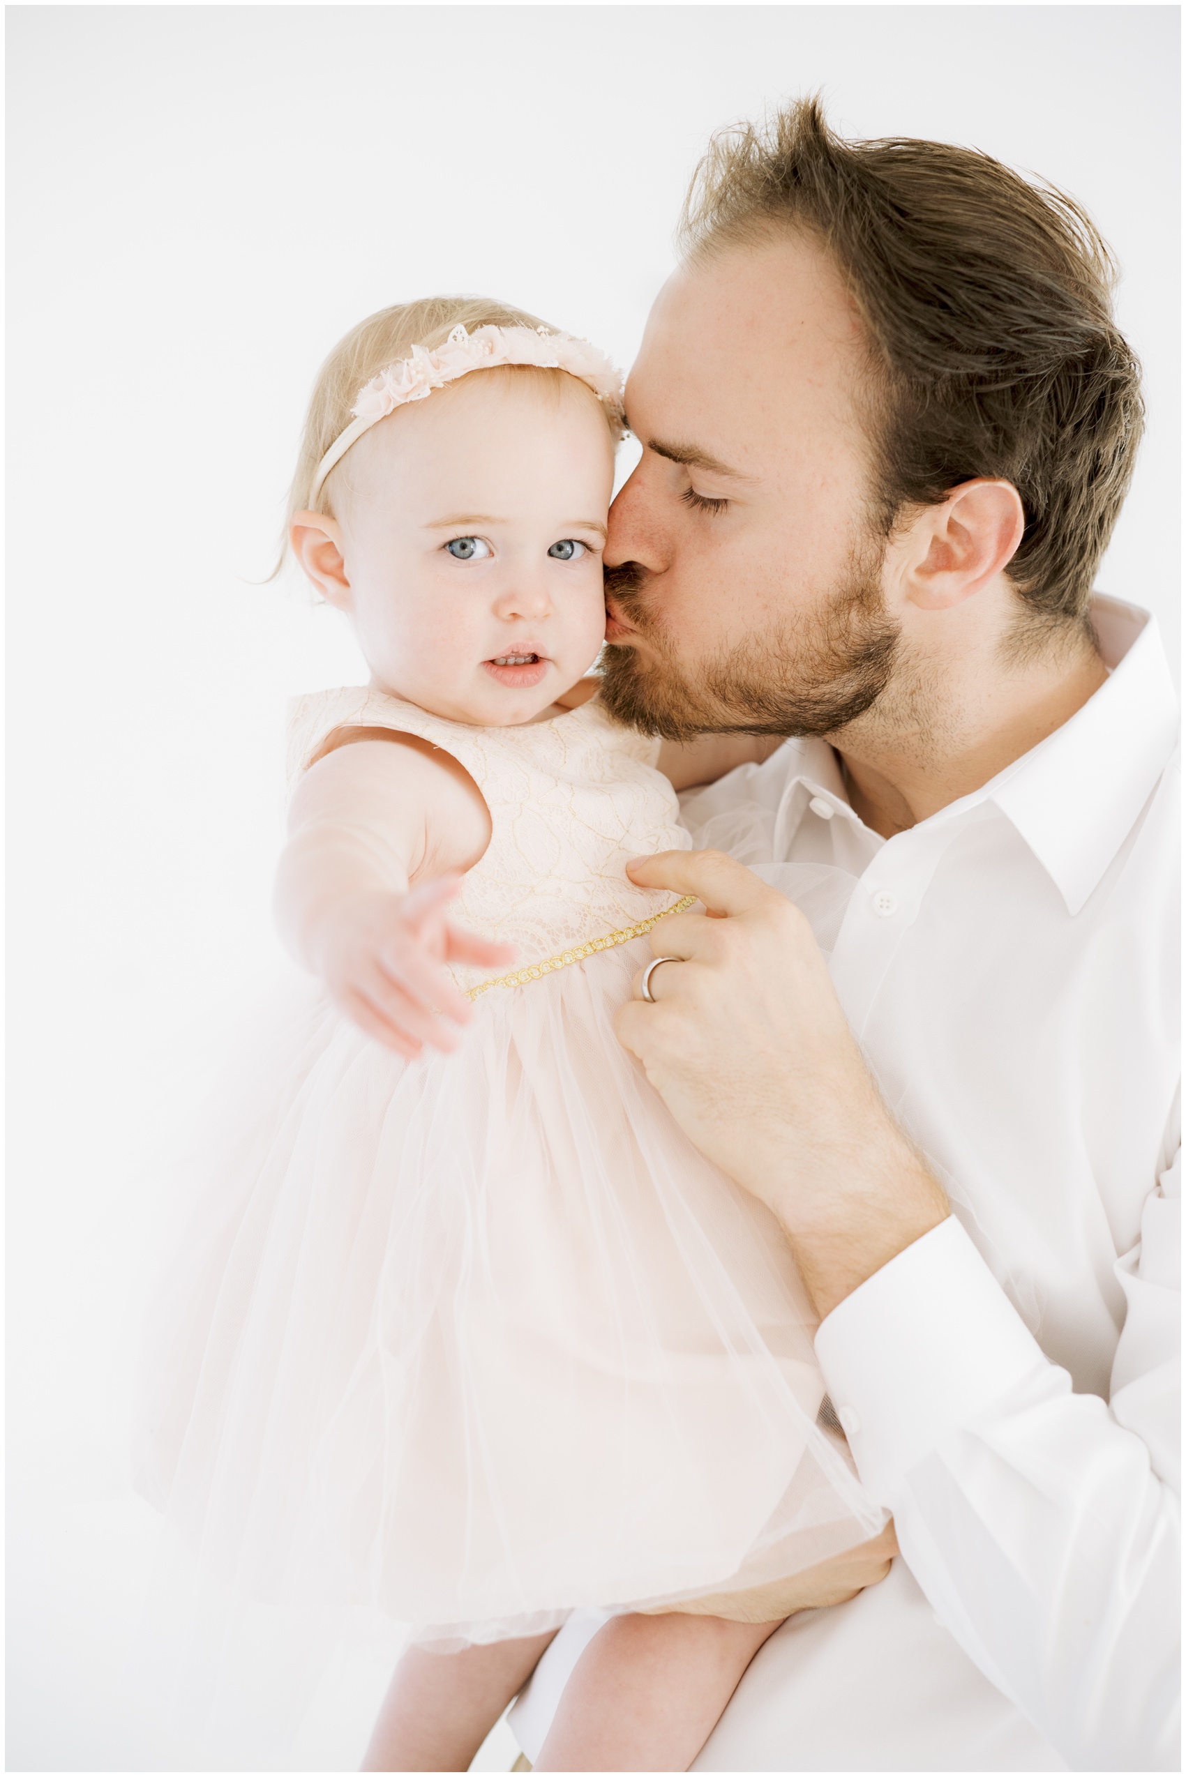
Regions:
<svg viewBox="0 0 1186 1777"><path fill-rule="evenodd" d="M621 421L589 345L418 302L333 352L293 485L372 681L295 709L277 917L317 984L169 1281L144 1471L254 1596L416 1626L368 1768L464 1768L592 1605L541 1768L683 1770L773 1582L882 1521L777 1226L613 1034L695 917L628 860L688 844L672 782L757 757L560 702Z"/></svg>

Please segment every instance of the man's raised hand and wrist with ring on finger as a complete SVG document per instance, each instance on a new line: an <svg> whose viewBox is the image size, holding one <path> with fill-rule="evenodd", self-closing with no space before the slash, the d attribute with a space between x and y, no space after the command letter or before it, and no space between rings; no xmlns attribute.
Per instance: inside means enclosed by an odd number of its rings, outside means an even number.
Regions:
<svg viewBox="0 0 1186 1777"><path fill-rule="evenodd" d="M651 933L654 1006L617 1034L676 1121L782 1223L820 1317L950 1214L891 1118L804 915L718 851L629 865L708 908ZM635 979L638 993L638 977Z"/></svg>

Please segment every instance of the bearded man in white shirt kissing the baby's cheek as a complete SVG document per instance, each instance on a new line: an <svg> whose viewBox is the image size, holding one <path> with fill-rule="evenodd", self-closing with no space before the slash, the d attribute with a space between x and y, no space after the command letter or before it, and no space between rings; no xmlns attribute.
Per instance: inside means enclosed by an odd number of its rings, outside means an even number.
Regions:
<svg viewBox="0 0 1186 1777"><path fill-rule="evenodd" d="M814 933L718 851L642 862L715 917L619 1034L782 1221L902 1550L695 1768L1175 1768L1175 705L1090 594L1142 416L1108 283L1069 199L795 105L715 142L629 379L606 702L797 736L686 816L846 899Z"/></svg>

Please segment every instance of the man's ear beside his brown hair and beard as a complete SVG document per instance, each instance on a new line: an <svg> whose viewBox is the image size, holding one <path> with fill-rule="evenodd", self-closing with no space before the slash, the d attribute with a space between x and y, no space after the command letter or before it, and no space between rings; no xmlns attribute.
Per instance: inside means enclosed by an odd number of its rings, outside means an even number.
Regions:
<svg viewBox="0 0 1186 1777"><path fill-rule="evenodd" d="M912 526L907 597L923 611L971 599L1014 560L1024 528L1026 514L1012 482L962 482Z"/></svg>

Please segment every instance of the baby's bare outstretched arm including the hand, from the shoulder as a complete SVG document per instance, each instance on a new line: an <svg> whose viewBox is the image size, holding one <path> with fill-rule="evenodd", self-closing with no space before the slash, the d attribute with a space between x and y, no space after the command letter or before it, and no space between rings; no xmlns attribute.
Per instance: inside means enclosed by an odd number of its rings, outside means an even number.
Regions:
<svg viewBox="0 0 1186 1777"><path fill-rule="evenodd" d="M455 1048L471 1009L443 965L512 960L448 920L489 842L477 785L421 743L361 737L309 768L288 832L276 920L295 960L388 1048Z"/></svg>

